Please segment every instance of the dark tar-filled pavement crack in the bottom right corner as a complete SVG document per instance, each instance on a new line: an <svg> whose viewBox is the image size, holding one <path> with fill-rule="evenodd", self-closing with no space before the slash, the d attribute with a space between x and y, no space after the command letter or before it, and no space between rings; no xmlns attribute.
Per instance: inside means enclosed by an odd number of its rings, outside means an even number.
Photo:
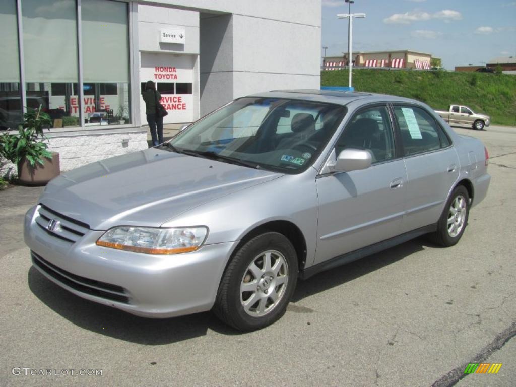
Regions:
<svg viewBox="0 0 516 387"><path fill-rule="evenodd" d="M459 365L457 368L452 369L446 375L442 376L439 380L436 380L432 387L451 387L459 382L459 380L465 378L469 374L464 374L464 369L466 369L467 365L470 363L483 363L486 361L493 352L502 348L505 343L507 343L512 337L516 336L516 321L511 324L511 326L501 333L498 333L494 340L483 347L476 356L464 363Z"/></svg>

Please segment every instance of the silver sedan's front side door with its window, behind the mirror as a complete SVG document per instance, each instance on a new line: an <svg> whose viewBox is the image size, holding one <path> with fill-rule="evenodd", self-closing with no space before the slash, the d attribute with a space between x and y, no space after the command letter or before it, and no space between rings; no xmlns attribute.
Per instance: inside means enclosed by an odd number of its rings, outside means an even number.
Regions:
<svg viewBox="0 0 516 387"><path fill-rule="evenodd" d="M320 175L315 264L400 233L406 171L395 159L393 131L385 106L354 116L335 144L367 149L373 165L364 170Z"/></svg>

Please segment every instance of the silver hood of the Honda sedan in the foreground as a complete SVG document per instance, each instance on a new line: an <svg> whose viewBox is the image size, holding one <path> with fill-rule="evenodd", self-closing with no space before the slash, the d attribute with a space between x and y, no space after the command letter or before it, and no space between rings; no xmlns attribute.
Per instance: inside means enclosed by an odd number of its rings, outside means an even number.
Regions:
<svg viewBox="0 0 516 387"><path fill-rule="evenodd" d="M65 172L46 186L39 202L92 230L158 227L188 209L280 176L150 148Z"/></svg>

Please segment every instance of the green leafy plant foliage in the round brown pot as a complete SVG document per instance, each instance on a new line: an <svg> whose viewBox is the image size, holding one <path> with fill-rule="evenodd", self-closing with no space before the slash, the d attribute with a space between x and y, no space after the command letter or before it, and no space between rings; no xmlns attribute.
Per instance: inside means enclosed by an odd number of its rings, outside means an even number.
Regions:
<svg viewBox="0 0 516 387"><path fill-rule="evenodd" d="M52 158L43 134L43 127L50 126L51 122L50 116L41 111L41 106L38 110L28 109L23 115L23 124L18 127L18 134L0 135L0 155L16 165L24 159L32 167L43 165L43 158Z"/></svg>

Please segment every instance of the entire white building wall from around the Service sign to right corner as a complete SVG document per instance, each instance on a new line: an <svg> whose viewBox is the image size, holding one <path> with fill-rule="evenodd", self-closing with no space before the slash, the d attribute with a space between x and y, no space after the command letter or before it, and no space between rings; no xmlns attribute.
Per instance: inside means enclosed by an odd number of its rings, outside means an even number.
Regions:
<svg viewBox="0 0 516 387"><path fill-rule="evenodd" d="M138 49L199 53L200 116L247 94L320 87L320 0L150 4L139 2ZM158 44L156 31L175 26L186 30L184 48Z"/></svg>

